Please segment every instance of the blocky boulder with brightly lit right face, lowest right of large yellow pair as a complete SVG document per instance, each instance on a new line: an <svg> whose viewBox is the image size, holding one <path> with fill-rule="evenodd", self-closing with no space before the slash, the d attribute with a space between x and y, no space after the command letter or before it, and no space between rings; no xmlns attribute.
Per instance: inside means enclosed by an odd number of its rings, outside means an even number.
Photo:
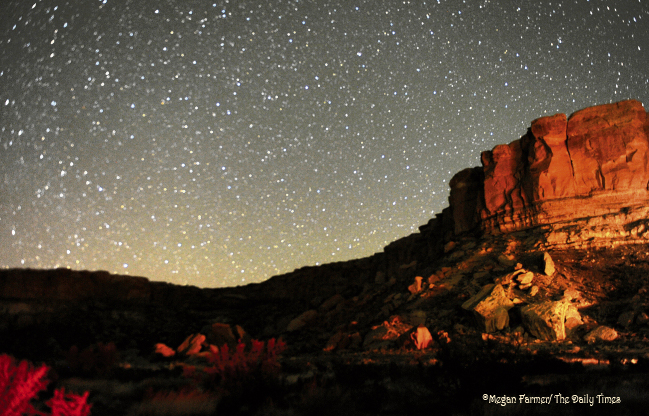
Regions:
<svg viewBox="0 0 649 416"><path fill-rule="evenodd" d="M524 306L521 308L523 326L539 339L561 341L566 338L566 312L570 306L566 300Z"/></svg>

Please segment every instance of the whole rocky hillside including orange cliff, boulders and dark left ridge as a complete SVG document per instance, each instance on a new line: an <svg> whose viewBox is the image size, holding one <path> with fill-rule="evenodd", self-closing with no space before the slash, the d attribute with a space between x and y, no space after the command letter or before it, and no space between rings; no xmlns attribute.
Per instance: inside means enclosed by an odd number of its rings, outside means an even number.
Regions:
<svg viewBox="0 0 649 416"><path fill-rule="evenodd" d="M559 371L557 362L570 374L589 363L644 371L648 137L637 101L534 120L521 139L484 152L482 167L455 175L449 207L419 233L368 258L260 284L198 289L105 272L3 270L0 351L47 360L73 345L115 342L129 366L146 367L160 359L156 344L172 351L200 333L196 353L281 337L284 364L303 370L292 380L325 377L332 366L363 372L368 363L383 369L368 377L384 380L404 354L402 375L412 360L434 374L441 364L462 373L539 354L534 377ZM381 389L394 387L381 380Z"/></svg>

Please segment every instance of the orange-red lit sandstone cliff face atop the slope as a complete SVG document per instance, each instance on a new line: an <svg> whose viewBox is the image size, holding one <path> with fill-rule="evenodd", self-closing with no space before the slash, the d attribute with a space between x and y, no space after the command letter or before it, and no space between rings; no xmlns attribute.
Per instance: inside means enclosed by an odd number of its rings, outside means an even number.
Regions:
<svg viewBox="0 0 649 416"><path fill-rule="evenodd" d="M648 132L645 109L635 100L534 120L522 138L483 152L481 168L453 177L444 221L460 234L507 232L622 208L644 216Z"/></svg>

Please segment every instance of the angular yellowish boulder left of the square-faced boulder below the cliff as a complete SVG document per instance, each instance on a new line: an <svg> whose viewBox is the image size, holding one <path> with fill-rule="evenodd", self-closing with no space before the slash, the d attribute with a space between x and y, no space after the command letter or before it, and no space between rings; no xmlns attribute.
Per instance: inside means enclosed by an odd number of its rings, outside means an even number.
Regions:
<svg viewBox="0 0 649 416"><path fill-rule="evenodd" d="M514 303L506 296L500 284L486 285L462 309L473 312L480 330L487 333L500 331L509 326L509 309Z"/></svg>

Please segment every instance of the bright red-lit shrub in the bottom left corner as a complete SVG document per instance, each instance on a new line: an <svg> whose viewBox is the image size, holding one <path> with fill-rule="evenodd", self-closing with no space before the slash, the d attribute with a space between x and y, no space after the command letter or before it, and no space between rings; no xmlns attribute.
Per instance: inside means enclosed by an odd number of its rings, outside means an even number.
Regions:
<svg viewBox="0 0 649 416"><path fill-rule="evenodd" d="M34 368L26 360L16 365L13 357L0 355L0 414L2 416L47 416L37 411L30 401L47 387L45 378L49 368L42 365ZM88 392L83 396L65 394L56 390L54 397L46 404L52 409L52 416L88 416L90 405L86 402Z"/></svg>

